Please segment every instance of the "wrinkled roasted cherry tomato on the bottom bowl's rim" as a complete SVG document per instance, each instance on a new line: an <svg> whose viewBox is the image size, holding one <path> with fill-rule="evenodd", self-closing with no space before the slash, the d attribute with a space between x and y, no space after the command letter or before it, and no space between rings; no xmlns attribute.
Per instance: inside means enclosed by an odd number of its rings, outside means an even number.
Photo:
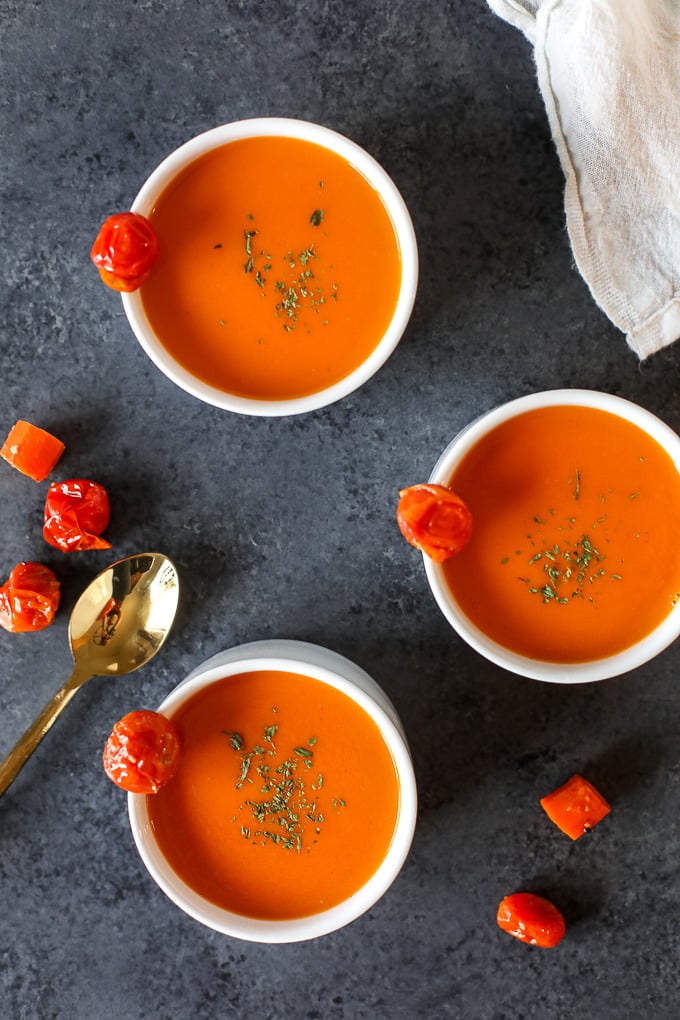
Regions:
<svg viewBox="0 0 680 1020"><path fill-rule="evenodd" d="M157 794L177 770L177 731L160 712L128 712L113 727L103 762L109 779L128 794Z"/></svg>

